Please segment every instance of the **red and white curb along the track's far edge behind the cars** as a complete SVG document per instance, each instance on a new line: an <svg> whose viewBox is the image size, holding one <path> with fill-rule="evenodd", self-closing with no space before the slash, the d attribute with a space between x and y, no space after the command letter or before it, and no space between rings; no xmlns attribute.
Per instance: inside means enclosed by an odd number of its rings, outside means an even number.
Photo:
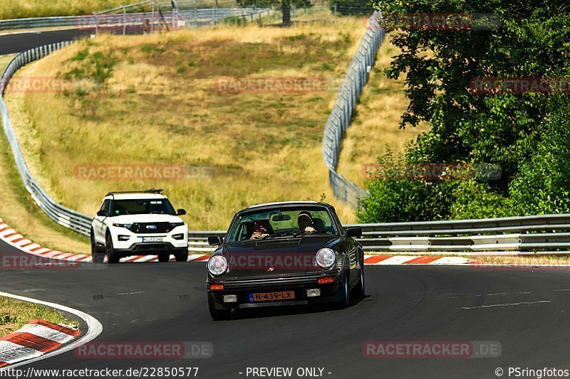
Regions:
<svg viewBox="0 0 570 379"><path fill-rule="evenodd" d="M90 255L72 254L71 252L59 252L42 247L31 242L26 237L20 235L16 230L10 228L0 219L0 240L8 243L17 249L38 257L50 258L53 260L65 260L70 262L92 262ZM209 254L191 254L188 262L205 262ZM105 257L105 262L107 258ZM172 257L171 261L175 258ZM134 255L132 257L121 258L120 262L157 262L156 255ZM477 261L467 257L421 257L413 255L365 255L365 265L473 265Z"/></svg>

